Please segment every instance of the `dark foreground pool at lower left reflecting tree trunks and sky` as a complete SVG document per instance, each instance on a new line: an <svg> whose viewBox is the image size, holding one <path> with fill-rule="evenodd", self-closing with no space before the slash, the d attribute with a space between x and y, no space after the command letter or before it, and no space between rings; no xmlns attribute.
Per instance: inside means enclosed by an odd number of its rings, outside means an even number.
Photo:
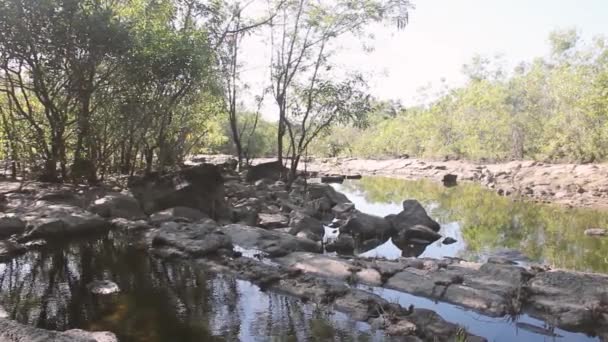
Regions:
<svg viewBox="0 0 608 342"><path fill-rule="evenodd" d="M121 292L94 296L93 280ZM102 237L27 253L0 264L0 305L41 328L109 330L129 341L372 341L369 326L251 283L166 263Z"/></svg>

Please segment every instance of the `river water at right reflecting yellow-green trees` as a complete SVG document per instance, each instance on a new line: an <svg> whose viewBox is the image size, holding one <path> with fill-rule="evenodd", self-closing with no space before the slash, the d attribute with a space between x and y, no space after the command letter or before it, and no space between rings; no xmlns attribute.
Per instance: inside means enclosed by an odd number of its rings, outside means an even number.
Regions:
<svg viewBox="0 0 608 342"><path fill-rule="evenodd" d="M447 246L437 241L423 257L483 261L497 251L519 250L554 267L608 273L608 239L583 234L589 227L607 227L608 212L515 201L470 183L446 188L429 180L367 177L335 187L357 209L378 216L398 213L405 199L420 201L441 223L440 233L458 241Z"/></svg>

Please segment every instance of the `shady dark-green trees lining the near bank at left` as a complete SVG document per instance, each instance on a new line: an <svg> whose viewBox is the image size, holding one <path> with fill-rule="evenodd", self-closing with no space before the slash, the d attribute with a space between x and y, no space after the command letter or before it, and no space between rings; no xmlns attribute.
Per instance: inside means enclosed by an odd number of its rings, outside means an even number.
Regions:
<svg viewBox="0 0 608 342"><path fill-rule="evenodd" d="M409 8L407 0L0 0L2 157L13 176L90 183L162 172L227 143L240 163L274 153L297 166L329 126L367 112L365 82L328 72L336 38L386 19L401 28ZM257 109L244 105L240 80L241 45L254 31L272 56L268 87L253 94ZM260 120L265 97L276 124Z"/></svg>

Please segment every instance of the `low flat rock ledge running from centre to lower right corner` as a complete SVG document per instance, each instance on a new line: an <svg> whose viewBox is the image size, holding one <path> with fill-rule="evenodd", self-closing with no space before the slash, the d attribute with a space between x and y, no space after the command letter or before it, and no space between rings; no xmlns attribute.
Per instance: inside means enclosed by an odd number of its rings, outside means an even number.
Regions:
<svg viewBox="0 0 608 342"><path fill-rule="evenodd" d="M214 272L233 274L263 290L322 303L355 320L383 328L389 335L449 341L463 334L463 330L437 313L389 303L358 285L384 287L451 303L489 317L526 313L569 331L608 334L608 276L541 266L478 264L456 258L347 259L307 250L315 245L312 242L300 245L294 240L297 237L276 230L244 225L216 229L211 228L211 221L206 224L207 228L197 230L199 234L189 233L184 241L174 235L171 243L153 244L152 252L163 258L187 259ZM229 240L222 239L224 243L216 248L224 252L211 253L209 243L216 239L218 230ZM152 241L158 241L158 236L166 232L151 234L156 234ZM239 257L239 252L226 252L230 248L226 241L259 253L249 253L251 258ZM176 249L186 253L175 253ZM198 253L200 249L205 253ZM477 336L468 339L477 340L483 339Z"/></svg>

